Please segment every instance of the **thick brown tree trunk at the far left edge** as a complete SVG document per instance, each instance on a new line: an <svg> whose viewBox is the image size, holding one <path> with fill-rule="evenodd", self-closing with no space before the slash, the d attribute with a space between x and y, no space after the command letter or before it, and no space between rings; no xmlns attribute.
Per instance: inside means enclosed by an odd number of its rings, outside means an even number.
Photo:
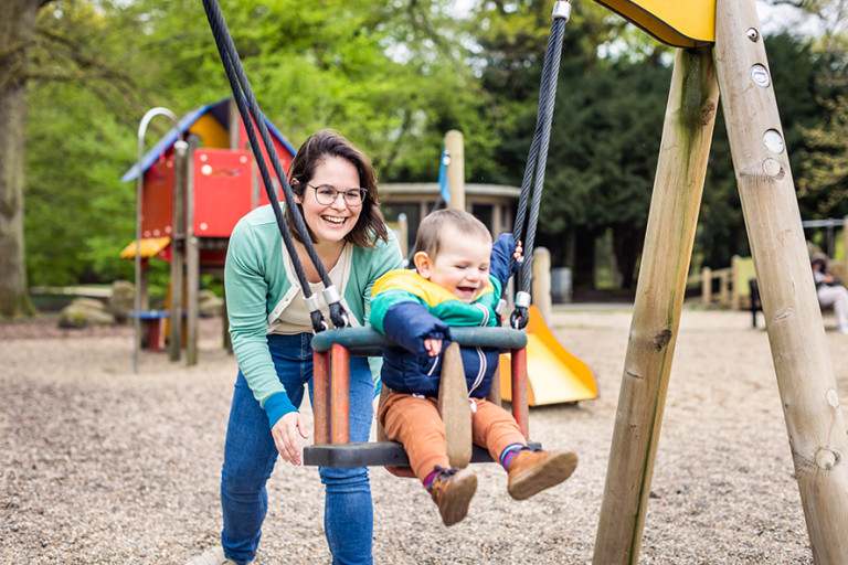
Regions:
<svg viewBox="0 0 848 565"><path fill-rule="evenodd" d="M0 2L0 317L35 313L23 246L26 75L39 9L50 0Z"/></svg>

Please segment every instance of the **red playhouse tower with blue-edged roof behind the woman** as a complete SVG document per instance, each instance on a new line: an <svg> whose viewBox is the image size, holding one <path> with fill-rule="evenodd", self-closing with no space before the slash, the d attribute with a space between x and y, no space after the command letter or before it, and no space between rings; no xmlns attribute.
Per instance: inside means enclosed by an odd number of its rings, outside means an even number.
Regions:
<svg viewBox="0 0 848 565"><path fill-rule="evenodd" d="M174 127L142 154L145 130L156 115L169 116ZM267 119L265 122L287 168L295 148ZM144 320L151 350L158 350L162 320L184 316L186 360L189 365L197 364L200 275L223 274L227 242L236 222L268 203L255 169L244 124L232 98L197 108L179 121L166 108L153 108L141 120L139 160L121 177L124 182L137 182L137 235L121 257L136 260L134 317L137 328ZM279 186L279 180L274 181ZM148 306L146 267L153 256L170 263L167 311L150 310ZM169 358L178 361L183 324L167 326ZM137 335L136 356L138 341Z"/></svg>

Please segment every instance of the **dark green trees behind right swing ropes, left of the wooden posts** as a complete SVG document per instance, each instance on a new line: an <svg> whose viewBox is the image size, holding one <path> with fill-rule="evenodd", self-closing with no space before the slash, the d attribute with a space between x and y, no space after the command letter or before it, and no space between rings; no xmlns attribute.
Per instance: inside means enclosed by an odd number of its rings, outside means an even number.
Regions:
<svg viewBox="0 0 848 565"><path fill-rule="evenodd" d="M574 7L553 117L539 243L574 284L594 286L595 241L610 232L617 270L633 286L647 222L670 70L666 47L610 20L594 4ZM520 184L537 119L548 30L547 2L486 3L478 36L484 87L496 104L499 182ZM617 53L617 54L616 54ZM601 54L604 56L602 57ZM496 181L497 182L497 181Z"/></svg>

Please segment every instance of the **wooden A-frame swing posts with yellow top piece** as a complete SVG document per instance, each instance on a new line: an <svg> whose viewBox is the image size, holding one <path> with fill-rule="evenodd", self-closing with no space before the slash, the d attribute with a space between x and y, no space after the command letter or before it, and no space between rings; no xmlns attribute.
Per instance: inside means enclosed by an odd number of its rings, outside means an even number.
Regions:
<svg viewBox="0 0 848 565"><path fill-rule="evenodd" d="M681 49L593 563L638 561L719 92L813 558L848 563L848 437L754 0L598 2ZM627 11L632 4L639 10ZM702 34L704 22L712 32ZM668 28L685 41L664 35Z"/></svg>

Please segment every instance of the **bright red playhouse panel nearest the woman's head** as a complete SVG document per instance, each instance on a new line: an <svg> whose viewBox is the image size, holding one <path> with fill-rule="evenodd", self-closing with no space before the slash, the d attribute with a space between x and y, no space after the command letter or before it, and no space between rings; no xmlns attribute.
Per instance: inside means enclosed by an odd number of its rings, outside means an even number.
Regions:
<svg viewBox="0 0 848 565"><path fill-rule="evenodd" d="M198 149L194 168L194 234L230 237L236 222L252 209L248 151Z"/></svg>

